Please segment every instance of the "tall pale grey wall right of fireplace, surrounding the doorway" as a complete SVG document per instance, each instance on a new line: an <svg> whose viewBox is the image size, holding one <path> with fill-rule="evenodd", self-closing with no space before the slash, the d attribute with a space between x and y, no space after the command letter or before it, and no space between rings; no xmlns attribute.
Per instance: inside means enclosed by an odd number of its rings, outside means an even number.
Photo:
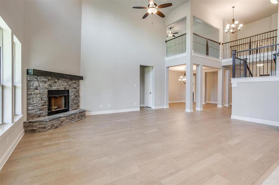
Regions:
<svg viewBox="0 0 279 185"><path fill-rule="evenodd" d="M81 107L87 112L139 108L140 65L154 66L155 106L165 105L164 19L153 16L151 25L151 16L142 19L144 12L132 6L82 1Z"/></svg>

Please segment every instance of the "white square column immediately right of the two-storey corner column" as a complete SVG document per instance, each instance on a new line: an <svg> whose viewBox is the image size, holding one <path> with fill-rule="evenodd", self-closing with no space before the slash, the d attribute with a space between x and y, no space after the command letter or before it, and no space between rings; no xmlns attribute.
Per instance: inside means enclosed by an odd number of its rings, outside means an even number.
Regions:
<svg viewBox="0 0 279 185"><path fill-rule="evenodd" d="M197 65L196 110L203 110L203 65Z"/></svg>

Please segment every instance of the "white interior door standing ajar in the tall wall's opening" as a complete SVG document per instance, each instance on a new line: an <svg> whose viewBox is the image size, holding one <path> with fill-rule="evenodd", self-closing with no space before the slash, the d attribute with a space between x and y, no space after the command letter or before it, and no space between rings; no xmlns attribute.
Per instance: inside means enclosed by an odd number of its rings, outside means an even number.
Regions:
<svg viewBox="0 0 279 185"><path fill-rule="evenodd" d="M153 102L153 68L145 68L145 106L152 107Z"/></svg>

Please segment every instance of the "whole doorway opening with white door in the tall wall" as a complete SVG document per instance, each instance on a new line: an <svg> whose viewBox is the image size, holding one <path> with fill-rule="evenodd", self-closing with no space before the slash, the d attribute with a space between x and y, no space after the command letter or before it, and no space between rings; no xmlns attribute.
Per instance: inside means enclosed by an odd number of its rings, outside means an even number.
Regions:
<svg viewBox="0 0 279 185"><path fill-rule="evenodd" d="M140 66L140 106L154 108L154 67Z"/></svg>

